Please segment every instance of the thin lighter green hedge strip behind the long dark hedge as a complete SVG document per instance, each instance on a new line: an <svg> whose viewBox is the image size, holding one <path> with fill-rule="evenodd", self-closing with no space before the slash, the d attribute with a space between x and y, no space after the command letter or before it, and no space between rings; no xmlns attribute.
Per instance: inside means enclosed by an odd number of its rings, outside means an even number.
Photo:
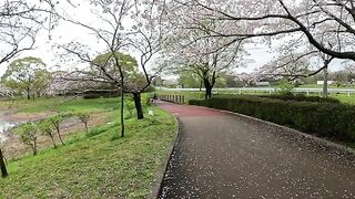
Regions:
<svg viewBox="0 0 355 199"><path fill-rule="evenodd" d="M282 101L297 101L297 102L317 102L317 103L333 103L341 104L341 101L332 97L320 97L320 96L306 96L302 94L274 94L274 95L261 95L260 97L265 98L277 98Z"/></svg>

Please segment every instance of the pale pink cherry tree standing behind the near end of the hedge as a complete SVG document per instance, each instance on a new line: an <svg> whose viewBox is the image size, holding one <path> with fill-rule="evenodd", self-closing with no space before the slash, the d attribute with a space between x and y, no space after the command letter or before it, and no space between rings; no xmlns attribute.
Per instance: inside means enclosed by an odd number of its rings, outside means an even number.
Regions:
<svg viewBox="0 0 355 199"><path fill-rule="evenodd" d="M220 74L243 63L243 38L213 36L207 30L220 30L224 22L200 18L194 7L171 2L166 20L172 36L165 44L165 62L173 73L195 73L204 84L205 98L212 96Z"/></svg>

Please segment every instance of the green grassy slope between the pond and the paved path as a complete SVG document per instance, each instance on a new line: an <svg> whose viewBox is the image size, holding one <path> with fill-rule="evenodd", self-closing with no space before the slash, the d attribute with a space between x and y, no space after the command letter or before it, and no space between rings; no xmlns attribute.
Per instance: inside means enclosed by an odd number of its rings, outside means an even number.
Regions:
<svg viewBox="0 0 355 199"><path fill-rule="evenodd" d="M42 103L52 104L52 100ZM37 103L36 103L37 104ZM106 111L114 124L78 134L67 146L47 149L37 157L11 160L10 176L0 179L0 198L143 198L173 139L176 128L169 114L154 107L156 116L126 121L120 138L116 100L77 100L60 109ZM40 112L24 105L21 112ZM44 111L44 109L43 109Z"/></svg>

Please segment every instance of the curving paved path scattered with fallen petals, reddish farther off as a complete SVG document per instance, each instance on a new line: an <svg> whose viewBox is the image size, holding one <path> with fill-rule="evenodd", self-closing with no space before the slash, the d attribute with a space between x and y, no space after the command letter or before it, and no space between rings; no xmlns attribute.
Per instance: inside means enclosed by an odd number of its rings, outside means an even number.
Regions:
<svg viewBox="0 0 355 199"><path fill-rule="evenodd" d="M160 198L355 198L355 155L242 116L161 104L181 134Z"/></svg>

